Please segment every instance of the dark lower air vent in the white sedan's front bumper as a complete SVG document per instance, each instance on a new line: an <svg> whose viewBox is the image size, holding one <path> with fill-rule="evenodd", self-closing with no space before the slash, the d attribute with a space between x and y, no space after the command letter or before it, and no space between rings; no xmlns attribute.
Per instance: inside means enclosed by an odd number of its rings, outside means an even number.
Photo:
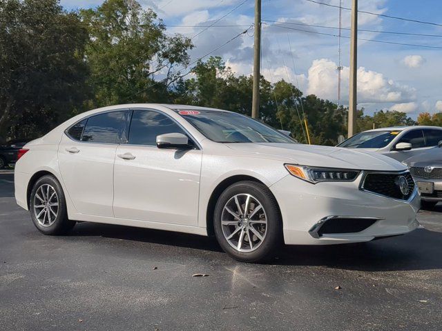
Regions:
<svg viewBox="0 0 442 331"><path fill-rule="evenodd" d="M318 236L323 237L323 234L361 232L372 226L376 221L378 220L347 217L328 219L318 230Z"/></svg>

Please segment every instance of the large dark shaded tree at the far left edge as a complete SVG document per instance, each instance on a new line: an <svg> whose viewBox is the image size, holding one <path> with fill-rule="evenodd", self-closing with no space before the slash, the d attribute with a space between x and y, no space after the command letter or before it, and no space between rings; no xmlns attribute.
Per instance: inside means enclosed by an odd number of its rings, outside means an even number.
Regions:
<svg viewBox="0 0 442 331"><path fill-rule="evenodd" d="M0 0L0 137L47 132L81 104L87 38L57 0Z"/></svg>

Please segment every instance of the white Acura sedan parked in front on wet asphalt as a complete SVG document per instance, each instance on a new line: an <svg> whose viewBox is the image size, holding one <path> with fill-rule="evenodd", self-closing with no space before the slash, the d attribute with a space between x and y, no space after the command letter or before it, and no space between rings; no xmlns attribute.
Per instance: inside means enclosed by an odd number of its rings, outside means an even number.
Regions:
<svg viewBox="0 0 442 331"><path fill-rule="evenodd" d="M215 234L249 262L282 242L405 234L420 205L410 172L389 157L301 145L234 112L159 104L91 110L26 144L15 197L44 234L75 221Z"/></svg>

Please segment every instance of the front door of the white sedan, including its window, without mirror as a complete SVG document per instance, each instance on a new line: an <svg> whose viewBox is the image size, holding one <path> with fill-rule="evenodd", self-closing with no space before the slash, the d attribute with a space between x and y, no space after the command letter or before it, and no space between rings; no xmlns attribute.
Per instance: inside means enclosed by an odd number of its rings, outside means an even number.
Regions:
<svg viewBox="0 0 442 331"><path fill-rule="evenodd" d="M115 158L115 217L197 225L202 150L157 148L157 135L171 132L191 138L163 112L133 110L128 143Z"/></svg>

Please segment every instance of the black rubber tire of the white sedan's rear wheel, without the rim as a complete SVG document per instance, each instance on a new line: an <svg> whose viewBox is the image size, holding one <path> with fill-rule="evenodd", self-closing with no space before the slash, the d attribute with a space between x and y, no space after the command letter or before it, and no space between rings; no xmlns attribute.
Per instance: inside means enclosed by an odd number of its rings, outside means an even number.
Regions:
<svg viewBox="0 0 442 331"><path fill-rule="evenodd" d="M46 225L41 224L41 217L40 220L37 219L38 214L41 212L42 209L36 208L36 203L41 203L41 205L45 205L46 203L41 201L42 189L44 188L50 188L51 192L52 190L55 191L55 198L57 200L57 209L55 209L55 206L53 207L53 210L56 210L56 217L54 215L47 211L50 216L44 217L43 223L46 222ZM37 192L39 192L38 197L36 197ZM46 197L43 197L44 200ZM41 202L40 202L41 201ZM52 198L52 204L55 205L55 200ZM48 201L50 202L50 201ZM44 209L44 208L43 208ZM44 177L41 177L37 180L37 182L32 187L32 191L30 193L29 198L29 210L30 210L30 217L32 219L32 222L34 223L35 227L44 234L48 235L59 235L59 234L66 234L69 230L71 230L74 225L75 221L70 221L68 219L68 211L66 209L66 199L64 197L63 189L61 188L61 185L59 181L52 175L46 175ZM53 223L50 223L53 222Z"/></svg>

